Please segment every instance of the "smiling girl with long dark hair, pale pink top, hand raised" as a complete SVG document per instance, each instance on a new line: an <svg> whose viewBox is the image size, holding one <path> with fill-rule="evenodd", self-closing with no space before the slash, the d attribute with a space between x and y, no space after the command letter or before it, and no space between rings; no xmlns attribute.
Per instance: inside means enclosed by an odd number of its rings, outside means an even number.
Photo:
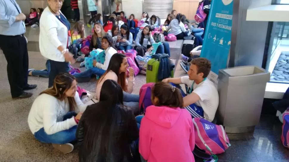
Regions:
<svg viewBox="0 0 289 162"><path fill-rule="evenodd" d="M114 54L111 57L108 68L102 77L97 81L96 86L96 98L100 99L100 90L102 84L107 79L112 79L116 81L122 88L123 92L123 101L125 106L133 108L135 114L138 114L138 105L139 105L139 95L131 94L133 92L134 86L134 71L133 68L129 68L129 78L126 79L125 72L128 69L128 60L123 54Z"/></svg>

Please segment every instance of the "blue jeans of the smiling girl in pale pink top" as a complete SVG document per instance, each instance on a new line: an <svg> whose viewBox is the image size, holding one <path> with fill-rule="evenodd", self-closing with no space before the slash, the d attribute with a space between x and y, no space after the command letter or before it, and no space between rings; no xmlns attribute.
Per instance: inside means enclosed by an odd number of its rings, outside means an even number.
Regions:
<svg viewBox="0 0 289 162"><path fill-rule="evenodd" d="M139 112L139 95L123 91L123 105L130 107L134 114Z"/></svg>

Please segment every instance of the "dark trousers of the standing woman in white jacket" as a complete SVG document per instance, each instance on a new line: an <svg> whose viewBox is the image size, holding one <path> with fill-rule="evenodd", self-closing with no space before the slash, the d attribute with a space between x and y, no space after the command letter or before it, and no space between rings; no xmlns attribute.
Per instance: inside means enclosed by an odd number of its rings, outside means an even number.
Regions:
<svg viewBox="0 0 289 162"><path fill-rule="evenodd" d="M59 73L67 73L69 72L69 64L68 62L58 62L50 60L50 73L49 73L49 79L48 79L48 88L53 86L53 82L55 77Z"/></svg>

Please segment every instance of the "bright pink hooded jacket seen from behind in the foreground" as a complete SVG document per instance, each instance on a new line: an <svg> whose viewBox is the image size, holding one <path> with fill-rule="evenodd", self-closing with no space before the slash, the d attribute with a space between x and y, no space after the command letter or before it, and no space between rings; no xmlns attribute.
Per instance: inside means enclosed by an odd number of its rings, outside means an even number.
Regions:
<svg viewBox="0 0 289 162"><path fill-rule="evenodd" d="M186 109L149 106L139 130L139 153L148 162L195 162L195 133Z"/></svg>

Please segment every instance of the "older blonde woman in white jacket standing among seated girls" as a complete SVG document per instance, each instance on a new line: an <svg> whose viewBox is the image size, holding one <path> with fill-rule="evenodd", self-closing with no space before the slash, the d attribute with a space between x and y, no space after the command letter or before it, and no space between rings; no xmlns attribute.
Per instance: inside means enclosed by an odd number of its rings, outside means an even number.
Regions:
<svg viewBox="0 0 289 162"><path fill-rule="evenodd" d="M41 55L50 60L48 87L55 76L69 71L69 62L74 63L68 47L71 42L70 23L60 12L64 0L47 0L48 7L41 14L39 49Z"/></svg>

